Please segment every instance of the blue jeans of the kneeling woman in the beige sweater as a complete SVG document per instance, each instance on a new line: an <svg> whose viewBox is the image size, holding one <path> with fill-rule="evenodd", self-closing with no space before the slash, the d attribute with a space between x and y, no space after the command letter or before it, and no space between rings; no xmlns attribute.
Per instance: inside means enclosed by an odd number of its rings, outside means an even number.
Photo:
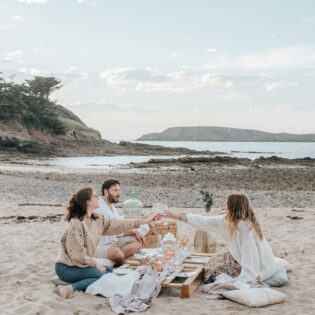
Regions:
<svg viewBox="0 0 315 315"><path fill-rule="evenodd" d="M102 272L97 268L70 267L65 264L56 263L55 270L61 280L71 282L73 290L85 291L90 284L105 275L105 273L112 272L113 268L106 267L106 272Z"/></svg>

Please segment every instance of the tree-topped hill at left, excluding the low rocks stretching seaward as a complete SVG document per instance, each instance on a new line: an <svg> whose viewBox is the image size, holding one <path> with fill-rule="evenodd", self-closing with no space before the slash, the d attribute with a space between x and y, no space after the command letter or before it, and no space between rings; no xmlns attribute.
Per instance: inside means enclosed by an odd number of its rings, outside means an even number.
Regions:
<svg viewBox="0 0 315 315"><path fill-rule="evenodd" d="M70 110L50 101L50 94L61 87L54 77L35 76L16 84L0 73L0 150L76 155L109 143Z"/></svg>

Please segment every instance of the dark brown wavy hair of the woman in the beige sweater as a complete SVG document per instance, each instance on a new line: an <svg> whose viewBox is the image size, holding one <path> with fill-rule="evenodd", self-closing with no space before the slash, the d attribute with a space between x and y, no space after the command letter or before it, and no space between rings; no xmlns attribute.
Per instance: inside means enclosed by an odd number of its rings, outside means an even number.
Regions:
<svg viewBox="0 0 315 315"><path fill-rule="evenodd" d="M92 194L92 187L83 187L74 193L69 200L65 220L70 222L72 218L77 218L82 221L87 212L86 203L91 200ZM91 218L95 220L98 218L98 215L96 213L92 213Z"/></svg>

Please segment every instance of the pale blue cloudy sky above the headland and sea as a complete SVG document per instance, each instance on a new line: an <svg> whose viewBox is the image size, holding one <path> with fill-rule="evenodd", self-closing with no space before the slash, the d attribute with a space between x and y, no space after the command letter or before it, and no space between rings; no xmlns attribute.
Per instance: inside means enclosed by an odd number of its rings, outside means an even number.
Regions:
<svg viewBox="0 0 315 315"><path fill-rule="evenodd" d="M0 0L0 72L58 78L104 139L315 133L315 1Z"/></svg>

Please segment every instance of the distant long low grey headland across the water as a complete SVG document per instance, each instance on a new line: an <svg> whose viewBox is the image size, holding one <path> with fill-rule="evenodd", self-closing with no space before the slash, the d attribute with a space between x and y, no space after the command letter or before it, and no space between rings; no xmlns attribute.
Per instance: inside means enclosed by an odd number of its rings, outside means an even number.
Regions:
<svg viewBox="0 0 315 315"><path fill-rule="evenodd" d="M142 141L315 142L315 134L271 133L226 127L174 127L140 137Z"/></svg>

